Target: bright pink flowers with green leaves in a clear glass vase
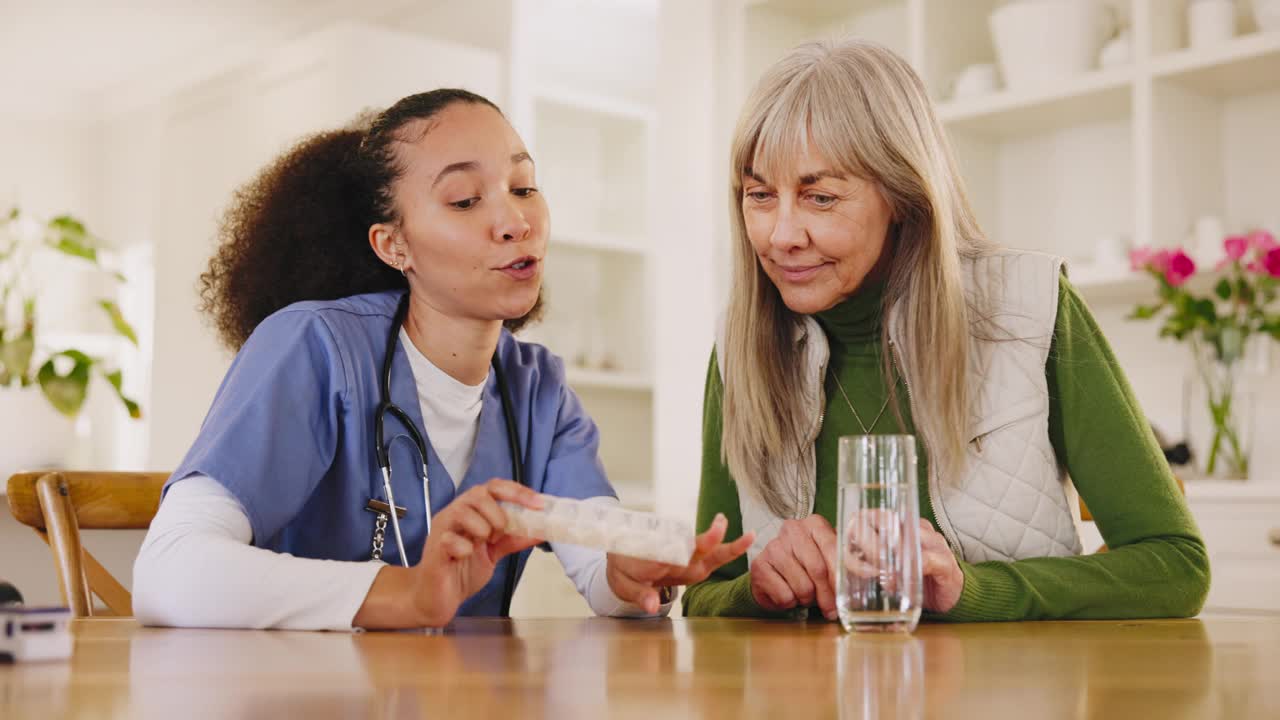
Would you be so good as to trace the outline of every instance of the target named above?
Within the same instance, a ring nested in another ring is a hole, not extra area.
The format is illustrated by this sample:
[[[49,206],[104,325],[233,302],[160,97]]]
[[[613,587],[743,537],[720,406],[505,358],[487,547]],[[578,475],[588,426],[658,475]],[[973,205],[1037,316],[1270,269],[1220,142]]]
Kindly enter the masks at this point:
[[[1181,249],[1134,250],[1130,264],[1156,279],[1158,300],[1138,305],[1130,318],[1162,316],[1160,337],[1190,346],[1183,424],[1197,469],[1207,477],[1247,479],[1253,384],[1267,370],[1267,338],[1280,338],[1280,314],[1272,310],[1280,295],[1280,245],[1271,233],[1254,231],[1228,237],[1222,250],[1204,286],[1208,292],[1189,287],[1198,268]],[[1251,356],[1263,361],[1249,363]]]

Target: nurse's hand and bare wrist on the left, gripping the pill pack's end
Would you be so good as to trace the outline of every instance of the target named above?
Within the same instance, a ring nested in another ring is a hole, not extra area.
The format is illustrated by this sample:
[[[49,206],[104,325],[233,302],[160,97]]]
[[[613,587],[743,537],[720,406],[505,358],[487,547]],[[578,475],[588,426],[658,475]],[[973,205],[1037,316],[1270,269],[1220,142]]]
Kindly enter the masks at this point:
[[[543,542],[508,534],[500,501],[541,509],[538,493],[511,480],[493,479],[460,495],[431,519],[417,565],[388,565],[378,573],[352,625],[439,628],[453,620],[458,606],[489,582],[499,560]]]

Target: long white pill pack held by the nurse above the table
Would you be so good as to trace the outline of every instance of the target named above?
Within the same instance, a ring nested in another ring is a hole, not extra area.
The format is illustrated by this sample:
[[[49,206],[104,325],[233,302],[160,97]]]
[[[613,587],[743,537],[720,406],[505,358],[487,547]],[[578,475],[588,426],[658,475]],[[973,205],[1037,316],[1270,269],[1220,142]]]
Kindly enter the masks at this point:
[[[694,529],[689,523],[612,503],[539,497],[541,510],[502,503],[507,532],[671,565],[686,565],[694,553]]]

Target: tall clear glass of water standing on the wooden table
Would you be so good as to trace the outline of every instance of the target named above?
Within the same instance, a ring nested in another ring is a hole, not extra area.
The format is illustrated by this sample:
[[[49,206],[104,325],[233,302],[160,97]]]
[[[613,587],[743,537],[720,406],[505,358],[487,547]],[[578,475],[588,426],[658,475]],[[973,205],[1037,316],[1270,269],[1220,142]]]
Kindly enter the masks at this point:
[[[920,620],[915,436],[840,438],[836,607],[846,630],[910,633]]]

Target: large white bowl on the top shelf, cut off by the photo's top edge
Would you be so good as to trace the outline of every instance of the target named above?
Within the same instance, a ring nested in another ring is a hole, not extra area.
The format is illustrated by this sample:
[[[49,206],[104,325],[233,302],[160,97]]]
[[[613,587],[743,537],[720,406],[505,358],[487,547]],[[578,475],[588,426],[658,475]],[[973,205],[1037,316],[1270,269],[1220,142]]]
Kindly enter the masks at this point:
[[[1033,88],[1097,67],[1107,10],[1098,0],[1018,0],[988,19],[1005,85]]]

